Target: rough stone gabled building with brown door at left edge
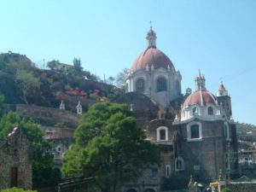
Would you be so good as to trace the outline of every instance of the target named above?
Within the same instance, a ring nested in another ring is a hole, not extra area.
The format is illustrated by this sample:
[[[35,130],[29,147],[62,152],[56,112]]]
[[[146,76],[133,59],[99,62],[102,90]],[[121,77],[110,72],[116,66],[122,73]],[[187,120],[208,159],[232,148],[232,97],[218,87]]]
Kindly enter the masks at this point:
[[[32,154],[26,135],[18,127],[0,143],[0,189],[32,189]]]

